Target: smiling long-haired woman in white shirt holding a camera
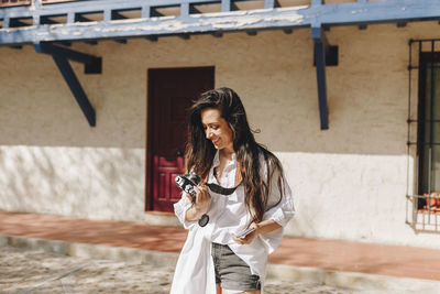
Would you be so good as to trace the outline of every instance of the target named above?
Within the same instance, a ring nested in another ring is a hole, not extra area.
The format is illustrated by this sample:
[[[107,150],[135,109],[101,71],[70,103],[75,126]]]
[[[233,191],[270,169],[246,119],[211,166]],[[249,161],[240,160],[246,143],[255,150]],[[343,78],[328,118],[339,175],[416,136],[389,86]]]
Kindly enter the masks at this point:
[[[170,293],[262,293],[294,203],[279,161],[255,141],[232,89],[207,91],[191,107],[186,170],[202,184],[194,202],[184,194],[174,206],[188,237]]]

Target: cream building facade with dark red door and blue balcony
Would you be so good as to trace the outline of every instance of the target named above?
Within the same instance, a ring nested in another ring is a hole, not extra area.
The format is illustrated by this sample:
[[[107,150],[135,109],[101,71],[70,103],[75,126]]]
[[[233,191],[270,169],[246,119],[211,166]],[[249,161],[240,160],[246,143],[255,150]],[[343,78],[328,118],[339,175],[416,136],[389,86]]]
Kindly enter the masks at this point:
[[[298,11],[317,6],[297,2],[293,7]],[[386,2],[396,1],[378,1]],[[403,9],[410,1],[404,2]],[[319,3],[337,14],[343,6],[374,4]],[[276,11],[292,9],[274,8],[273,18]],[[407,10],[418,11],[410,4]],[[82,63],[72,63],[95,110],[94,126],[78,107],[78,97],[66,83],[70,79],[58,70],[63,66],[54,62],[57,55],[40,53],[38,42],[9,41],[7,33],[46,25],[62,34],[63,25],[81,28],[99,21],[3,25],[0,209],[154,224],[158,216],[148,211],[167,210],[166,204],[157,203],[165,197],[162,194],[169,198],[177,193],[169,179],[182,167],[180,146],[173,142],[182,141],[185,126],[168,123],[169,118],[180,118],[196,98],[184,92],[227,86],[241,96],[251,127],[260,130],[257,141],[283,162],[297,209],[287,235],[438,248],[440,205],[435,194],[424,194],[438,190],[439,23],[389,18],[322,24],[324,39],[318,39],[338,47],[336,62],[334,55],[327,56],[334,63],[324,67],[323,84],[317,73],[317,39],[310,26],[300,24],[95,40],[66,31],[72,40],[42,41],[101,58],[98,74],[85,74]],[[188,89],[188,84],[204,85]],[[319,94],[322,85],[324,99]],[[165,101],[168,91],[175,99]],[[323,102],[327,111],[320,110]],[[161,155],[162,150],[175,156]],[[163,172],[174,161],[174,170]]]

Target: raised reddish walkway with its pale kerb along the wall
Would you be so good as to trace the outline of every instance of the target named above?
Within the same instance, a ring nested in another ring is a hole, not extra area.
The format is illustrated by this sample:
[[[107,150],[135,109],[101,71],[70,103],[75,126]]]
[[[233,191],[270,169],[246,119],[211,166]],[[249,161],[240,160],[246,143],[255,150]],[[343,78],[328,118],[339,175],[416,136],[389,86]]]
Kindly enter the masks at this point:
[[[0,213],[0,244],[72,257],[174,264],[177,227]],[[440,293],[440,250],[285,237],[268,277],[386,293]]]

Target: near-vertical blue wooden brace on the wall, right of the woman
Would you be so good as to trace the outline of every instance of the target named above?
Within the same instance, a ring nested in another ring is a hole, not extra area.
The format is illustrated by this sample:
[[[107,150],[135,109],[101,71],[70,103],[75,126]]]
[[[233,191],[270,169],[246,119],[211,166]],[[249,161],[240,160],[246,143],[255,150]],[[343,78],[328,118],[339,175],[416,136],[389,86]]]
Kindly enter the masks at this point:
[[[329,129],[329,115],[327,106],[327,81],[326,81],[326,36],[320,26],[311,28],[311,37],[314,39],[314,54],[317,69],[318,81],[318,102],[319,117],[321,120],[321,130]]]

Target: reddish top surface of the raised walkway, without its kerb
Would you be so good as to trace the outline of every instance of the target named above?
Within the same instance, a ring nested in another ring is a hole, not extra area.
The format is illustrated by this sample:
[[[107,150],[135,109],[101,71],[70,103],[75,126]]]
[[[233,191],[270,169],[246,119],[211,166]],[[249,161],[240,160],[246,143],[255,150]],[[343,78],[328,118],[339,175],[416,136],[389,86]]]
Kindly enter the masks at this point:
[[[187,231],[182,227],[0,211],[0,236],[178,253]],[[440,250],[406,246],[285,236],[268,263],[440,281]]]

